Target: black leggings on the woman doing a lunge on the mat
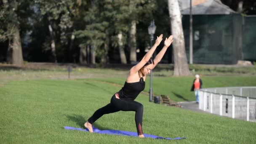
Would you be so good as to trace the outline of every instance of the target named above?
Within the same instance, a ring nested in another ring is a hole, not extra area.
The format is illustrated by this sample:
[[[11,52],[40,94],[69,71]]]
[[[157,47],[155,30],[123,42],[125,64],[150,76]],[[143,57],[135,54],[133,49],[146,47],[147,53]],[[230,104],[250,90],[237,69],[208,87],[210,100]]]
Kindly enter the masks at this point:
[[[133,101],[130,99],[117,99],[112,96],[111,101],[105,107],[101,107],[96,110],[94,114],[88,119],[88,122],[93,124],[96,120],[98,120],[102,115],[118,112],[118,111],[135,111],[135,123],[138,135],[142,135],[142,117],[143,117],[143,105],[137,101]]]

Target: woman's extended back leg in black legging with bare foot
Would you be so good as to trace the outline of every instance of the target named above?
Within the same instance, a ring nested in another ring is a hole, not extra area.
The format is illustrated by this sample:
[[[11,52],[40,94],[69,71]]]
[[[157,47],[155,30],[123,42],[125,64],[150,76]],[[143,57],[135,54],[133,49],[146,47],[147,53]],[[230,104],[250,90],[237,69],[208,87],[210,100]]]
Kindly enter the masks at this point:
[[[93,133],[92,124],[98,120],[102,115],[118,112],[119,109],[115,108],[112,104],[107,104],[104,107],[101,107],[100,109],[96,110],[94,114],[88,119],[88,121],[84,124],[85,128],[88,128],[88,130]]]

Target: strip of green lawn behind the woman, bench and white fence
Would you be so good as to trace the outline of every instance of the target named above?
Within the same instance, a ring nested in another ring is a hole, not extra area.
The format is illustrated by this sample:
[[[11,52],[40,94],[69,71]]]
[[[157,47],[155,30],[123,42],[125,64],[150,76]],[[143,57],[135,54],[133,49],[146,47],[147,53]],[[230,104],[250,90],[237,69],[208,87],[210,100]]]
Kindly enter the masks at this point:
[[[201,77],[203,88],[256,86],[256,76],[211,76]],[[117,83],[122,87],[124,78],[100,78],[94,81]],[[167,95],[173,101],[195,101],[194,92],[190,91],[194,77],[153,77],[152,89],[155,95]],[[88,81],[91,81],[88,79]],[[145,92],[149,92],[150,79],[147,77]]]

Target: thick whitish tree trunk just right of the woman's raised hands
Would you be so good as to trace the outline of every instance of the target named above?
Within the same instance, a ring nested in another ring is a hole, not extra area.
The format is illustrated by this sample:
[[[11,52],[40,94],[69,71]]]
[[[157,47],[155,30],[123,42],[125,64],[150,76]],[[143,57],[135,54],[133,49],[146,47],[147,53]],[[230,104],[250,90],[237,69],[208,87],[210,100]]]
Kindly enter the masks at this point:
[[[185,52],[184,34],[181,22],[181,12],[178,0],[168,0],[169,15],[171,18],[171,29],[174,38],[174,76],[190,75]]]

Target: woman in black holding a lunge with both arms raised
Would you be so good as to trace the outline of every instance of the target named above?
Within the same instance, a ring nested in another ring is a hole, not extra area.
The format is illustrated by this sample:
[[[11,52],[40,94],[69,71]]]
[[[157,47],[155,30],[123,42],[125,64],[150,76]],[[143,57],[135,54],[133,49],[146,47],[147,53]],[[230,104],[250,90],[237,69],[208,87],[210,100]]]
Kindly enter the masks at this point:
[[[134,101],[141,91],[145,88],[146,75],[150,73],[152,69],[158,64],[158,62],[163,58],[165,51],[173,42],[173,36],[165,38],[164,47],[157,54],[155,59],[152,59],[152,54],[154,53],[157,46],[163,39],[163,34],[157,37],[155,44],[152,48],[145,54],[145,56],[139,61],[138,64],[130,69],[128,77],[126,78],[123,88],[115,93],[110,103],[100,109],[96,110],[94,114],[88,119],[84,124],[85,128],[93,133],[92,124],[98,120],[102,115],[118,112],[118,111],[135,111],[135,123],[139,137],[144,137],[142,131],[142,116],[143,116],[143,105],[137,101]]]

